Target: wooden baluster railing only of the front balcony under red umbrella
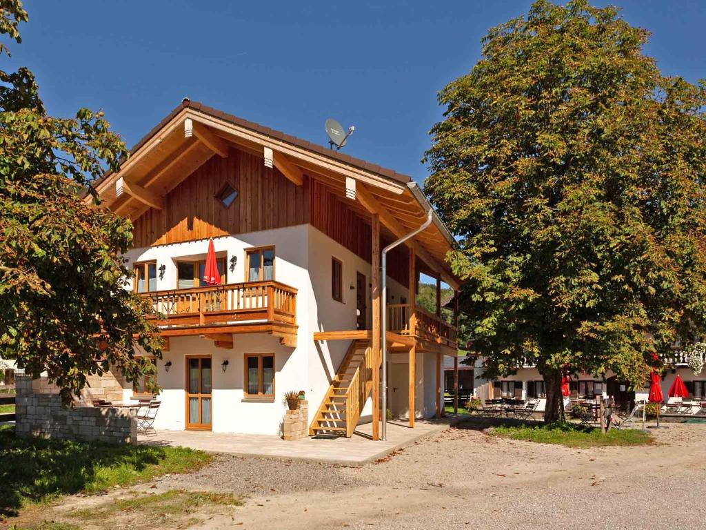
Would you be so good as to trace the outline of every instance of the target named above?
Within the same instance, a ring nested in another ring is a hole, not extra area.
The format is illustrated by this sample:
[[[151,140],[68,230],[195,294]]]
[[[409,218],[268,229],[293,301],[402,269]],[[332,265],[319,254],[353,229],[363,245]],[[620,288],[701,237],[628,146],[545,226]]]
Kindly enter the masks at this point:
[[[272,322],[296,324],[297,290],[277,281],[140,293],[160,326]]]

